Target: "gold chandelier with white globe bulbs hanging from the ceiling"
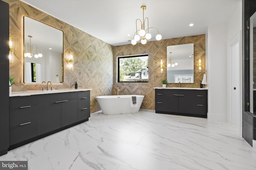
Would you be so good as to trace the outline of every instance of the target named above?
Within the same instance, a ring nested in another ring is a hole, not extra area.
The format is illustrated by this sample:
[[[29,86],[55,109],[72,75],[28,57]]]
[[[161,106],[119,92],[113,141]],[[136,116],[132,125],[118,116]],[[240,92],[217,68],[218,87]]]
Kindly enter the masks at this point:
[[[140,39],[142,44],[146,44],[147,40],[151,39],[152,37],[151,34],[149,33],[149,29],[156,29],[155,27],[148,27],[148,17],[144,19],[144,10],[146,10],[146,6],[141,6],[140,8],[143,10],[143,22],[140,19],[136,20],[136,32],[134,33],[133,40],[131,41],[132,45],[135,45],[137,41],[139,41]],[[141,29],[140,27],[139,29],[137,28],[137,21],[140,21]],[[147,23],[146,28],[145,23]],[[156,35],[156,40],[159,41],[162,39],[162,35],[159,34],[158,29],[156,29],[156,31],[158,32],[158,34]]]

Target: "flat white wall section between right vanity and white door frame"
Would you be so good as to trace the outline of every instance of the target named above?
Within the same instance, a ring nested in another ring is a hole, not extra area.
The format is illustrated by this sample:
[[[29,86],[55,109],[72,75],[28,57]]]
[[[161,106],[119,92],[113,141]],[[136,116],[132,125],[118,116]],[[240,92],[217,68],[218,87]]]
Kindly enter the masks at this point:
[[[226,122],[228,23],[208,27],[208,120]]]

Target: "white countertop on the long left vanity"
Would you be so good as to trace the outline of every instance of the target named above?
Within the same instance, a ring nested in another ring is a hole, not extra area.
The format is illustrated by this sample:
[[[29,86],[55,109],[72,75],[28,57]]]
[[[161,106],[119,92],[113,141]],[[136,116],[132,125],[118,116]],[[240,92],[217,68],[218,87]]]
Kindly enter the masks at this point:
[[[31,95],[37,95],[37,94],[51,94],[51,93],[65,93],[65,92],[80,92],[80,91],[88,91],[92,89],[54,89],[54,90],[34,90],[34,91],[23,91],[23,92],[12,92],[12,94],[9,94],[9,97],[13,96],[31,96]]]

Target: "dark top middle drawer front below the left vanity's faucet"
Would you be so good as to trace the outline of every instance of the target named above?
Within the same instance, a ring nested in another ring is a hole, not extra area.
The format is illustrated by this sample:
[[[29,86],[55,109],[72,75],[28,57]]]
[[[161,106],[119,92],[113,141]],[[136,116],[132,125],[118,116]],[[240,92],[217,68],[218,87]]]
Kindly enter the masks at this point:
[[[42,94],[40,96],[40,104],[47,104],[52,102],[60,102],[64,100],[73,99],[77,99],[77,92]]]

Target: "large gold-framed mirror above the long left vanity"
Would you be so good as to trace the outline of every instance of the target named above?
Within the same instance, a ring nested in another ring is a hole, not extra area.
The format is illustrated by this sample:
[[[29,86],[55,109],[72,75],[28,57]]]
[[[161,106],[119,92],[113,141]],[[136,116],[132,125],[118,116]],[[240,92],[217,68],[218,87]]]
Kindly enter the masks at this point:
[[[63,31],[27,16],[23,20],[24,83],[63,83]]]

